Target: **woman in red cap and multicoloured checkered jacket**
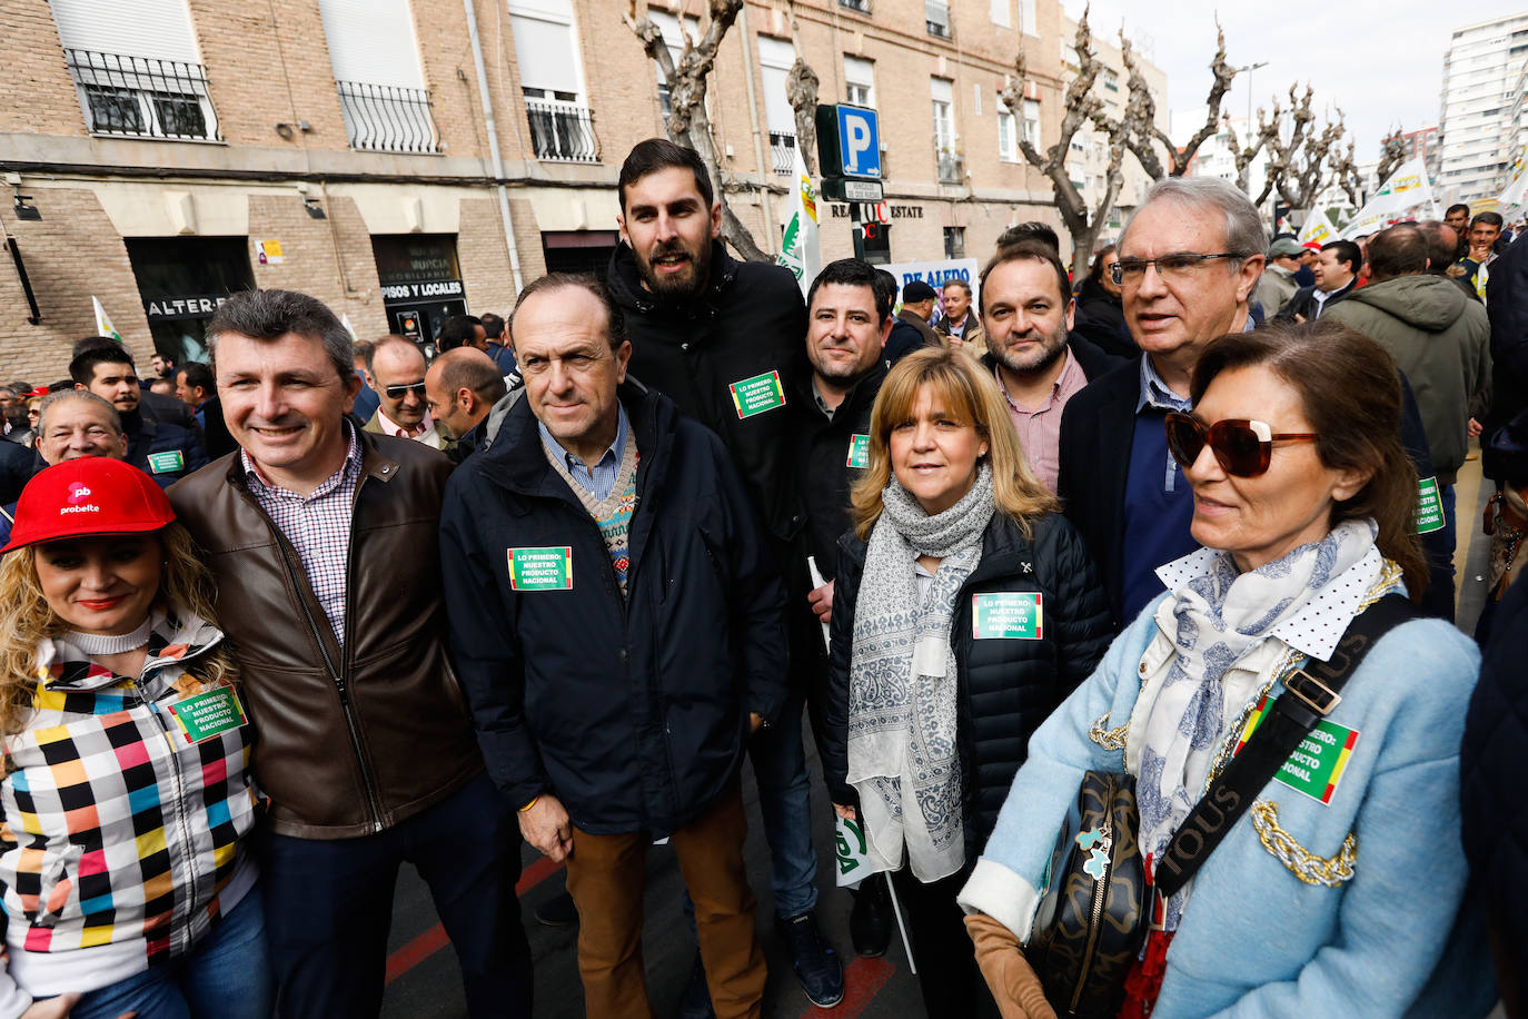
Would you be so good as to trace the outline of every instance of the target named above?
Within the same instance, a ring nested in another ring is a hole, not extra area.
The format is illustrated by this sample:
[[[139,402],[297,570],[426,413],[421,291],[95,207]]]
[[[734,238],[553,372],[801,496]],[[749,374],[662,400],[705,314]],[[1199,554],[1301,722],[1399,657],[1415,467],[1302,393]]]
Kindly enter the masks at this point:
[[[269,1016],[252,733],[170,500],[69,460],[0,553],[0,1016]]]

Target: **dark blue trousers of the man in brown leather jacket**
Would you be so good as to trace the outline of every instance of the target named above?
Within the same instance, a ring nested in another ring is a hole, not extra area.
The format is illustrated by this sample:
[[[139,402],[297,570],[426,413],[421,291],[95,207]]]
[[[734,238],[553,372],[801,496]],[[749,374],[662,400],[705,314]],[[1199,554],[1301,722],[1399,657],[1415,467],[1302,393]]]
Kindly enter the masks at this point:
[[[429,885],[461,964],[468,1014],[530,1016],[530,944],[520,926],[520,822],[487,773],[358,839],[264,837],[270,958],[289,1019],[382,1010],[397,868]]]

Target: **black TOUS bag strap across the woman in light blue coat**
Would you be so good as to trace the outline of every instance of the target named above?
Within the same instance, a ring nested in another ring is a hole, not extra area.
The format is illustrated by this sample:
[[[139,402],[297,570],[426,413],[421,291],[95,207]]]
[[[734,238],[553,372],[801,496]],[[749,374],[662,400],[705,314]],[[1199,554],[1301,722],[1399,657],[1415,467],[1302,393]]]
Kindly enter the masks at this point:
[[[1174,895],[1189,883],[1305,735],[1337,707],[1343,684],[1380,637],[1412,619],[1421,619],[1421,613],[1406,597],[1386,594],[1348,623],[1331,662],[1313,658],[1285,677],[1284,694],[1268,717],[1189,811],[1157,862],[1154,877],[1163,895]]]

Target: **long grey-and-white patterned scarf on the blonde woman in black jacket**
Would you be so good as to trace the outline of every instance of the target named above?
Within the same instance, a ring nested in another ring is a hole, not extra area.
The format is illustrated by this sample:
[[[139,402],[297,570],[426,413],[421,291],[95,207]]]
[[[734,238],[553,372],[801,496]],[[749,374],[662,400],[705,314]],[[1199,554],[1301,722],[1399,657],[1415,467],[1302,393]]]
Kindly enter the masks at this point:
[[[866,860],[931,883],[966,865],[957,746],[955,596],[981,559],[996,504],[992,469],[955,506],[929,516],[897,483],[869,533],[850,657],[848,782],[859,791]],[[918,599],[918,556],[940,559]]]

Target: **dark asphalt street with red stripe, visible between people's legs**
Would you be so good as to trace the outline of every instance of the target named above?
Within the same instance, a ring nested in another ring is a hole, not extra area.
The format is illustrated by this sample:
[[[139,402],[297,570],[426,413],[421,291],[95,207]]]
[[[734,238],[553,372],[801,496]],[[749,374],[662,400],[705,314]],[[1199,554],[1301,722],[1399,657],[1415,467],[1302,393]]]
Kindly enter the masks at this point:
[[[1479,460],[1471,460],[1459,474],[1456,623],[1464,632],[1475,629],[1485,599],[1487,539],[1481,530],[1481,507],[1493,487],[1481,478]],[[848,933],[850,897],[834,886],[833,811],[810,729],[807,732],[808,770],[811,772],[811,802],[817,849],[817,920],[828,943],[845,964],[845,998],[837,1008],[814,1008],[801,992],[790,970],[782,938],[775,930],[775,909],[769,889],[769,846],[764,842],[758,811],[758,790],[752,768],[743,779],[749,810],[746,857],[753,891],[759,898],[758,932],[769,959],[769,984],[764,1014],[769,1019],[891,1019],[923,1016],[917,978],[908,969],[900,943],[892,938],[891,950],[879,959],[856,959]],[[578,979],[576,927],[544,927],[533,917],[535,907],[562,891],[562,871],[538,852],[523,846],[523,877],[520,882],[526,932],[535,956],[536,1019],[582,1019],[584,993]],[[695,940],[680,911],[683,882],[672,851],[652,846],[648,851],[646,917],[643,953],[646,956],[648,996],[660,1019],[675,1014],[685,982],[695,956]],[[455,953],[440,929],[429,892],[419,877],[405,868],[399,877],[390,940],[388,988],[382,1014],[385,1019],[458,1019],[466,1016],[461,979]]]

